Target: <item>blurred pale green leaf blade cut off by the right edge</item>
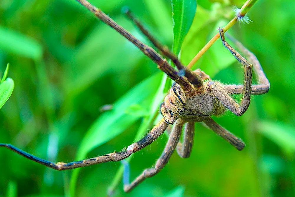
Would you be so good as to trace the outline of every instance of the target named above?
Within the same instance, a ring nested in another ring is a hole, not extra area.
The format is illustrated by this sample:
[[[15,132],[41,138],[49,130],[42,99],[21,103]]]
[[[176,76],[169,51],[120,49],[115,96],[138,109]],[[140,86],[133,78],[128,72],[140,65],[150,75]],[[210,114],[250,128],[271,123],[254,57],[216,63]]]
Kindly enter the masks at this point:
[[[276,143],[288,154],[295,152],[295,128],[281,122],[264,121],[257,127],[258,132]]]

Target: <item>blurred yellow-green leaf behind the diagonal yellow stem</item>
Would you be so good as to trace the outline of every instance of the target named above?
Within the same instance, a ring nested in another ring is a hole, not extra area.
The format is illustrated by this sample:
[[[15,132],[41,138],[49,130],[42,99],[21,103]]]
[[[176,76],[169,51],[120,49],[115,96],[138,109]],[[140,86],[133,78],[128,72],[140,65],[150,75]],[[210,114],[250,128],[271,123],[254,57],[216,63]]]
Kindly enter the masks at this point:
[[[187,65],[191,59],[206,45],[218,32],[217,27],[224,27],[227,21],[218,18],[211,19],[208,10],[198,6],[195,20],[183,41],[181,48],[181,61]],[[209,18],[209,19],[208,19]],[[226,38],[227,39],[227,38]],[[213,78],[220,70],[232,65],[237,60],[217,40],[204,55],[197,61],[194,68],[200,68]]]

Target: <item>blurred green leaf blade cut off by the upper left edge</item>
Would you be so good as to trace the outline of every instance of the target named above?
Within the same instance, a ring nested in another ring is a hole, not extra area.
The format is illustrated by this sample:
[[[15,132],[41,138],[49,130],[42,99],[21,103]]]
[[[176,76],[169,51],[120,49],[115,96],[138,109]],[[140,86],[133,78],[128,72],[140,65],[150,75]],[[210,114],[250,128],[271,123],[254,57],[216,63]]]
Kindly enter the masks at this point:
[[[0,26],[0,48],[32,59],[42,57],[42,46],[32,38]]]

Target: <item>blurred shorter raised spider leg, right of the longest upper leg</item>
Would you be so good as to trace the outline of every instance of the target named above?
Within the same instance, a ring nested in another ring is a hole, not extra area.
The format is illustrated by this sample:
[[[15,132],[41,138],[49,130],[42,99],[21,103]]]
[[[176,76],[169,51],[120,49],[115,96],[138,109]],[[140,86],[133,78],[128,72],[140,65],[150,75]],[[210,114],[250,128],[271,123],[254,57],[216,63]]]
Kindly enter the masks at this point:
[[[195,87],[199,88],[203,85],[203,80],[201,76],[192,72],[189,68],[183,66],[183,64],[178,60],[177,56],[172,53],[167,46],[162,45],[153,35],[148,32],[148,30],[142,25],[142,23],[135,17],[135,15],[130,11],[128,7],[125,7],[124,13],[127,17],[140,29],[140,31],[157,47],[164,56],[170,58],[176,65],[178,70],[185,71],[184,76],[187,77],[188,81]]]

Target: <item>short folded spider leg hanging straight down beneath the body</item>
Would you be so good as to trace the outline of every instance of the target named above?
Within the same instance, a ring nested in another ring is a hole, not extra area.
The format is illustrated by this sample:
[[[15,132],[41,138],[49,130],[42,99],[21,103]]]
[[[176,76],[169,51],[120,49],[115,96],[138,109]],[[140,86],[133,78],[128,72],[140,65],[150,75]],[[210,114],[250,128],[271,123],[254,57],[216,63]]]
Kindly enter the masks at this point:
[[[187,122],[184,127],[183,143],[178,142],[176,151],[182,158],[189,158],[194,144],[195,123]]]

